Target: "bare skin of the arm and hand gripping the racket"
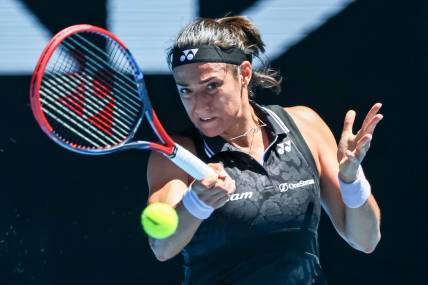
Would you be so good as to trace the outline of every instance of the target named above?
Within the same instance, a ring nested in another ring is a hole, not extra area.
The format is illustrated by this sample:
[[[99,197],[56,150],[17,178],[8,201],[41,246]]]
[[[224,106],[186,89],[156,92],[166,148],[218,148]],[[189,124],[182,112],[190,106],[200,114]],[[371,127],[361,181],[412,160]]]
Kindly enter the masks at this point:
[[[190,139],[174,137],[174,140],[195,153],[195,146]],[[235,183],[230,177],[224,175],[220,164],[209,165],[219,175],[194,181],[192,189],[198,193],[202,201],[217,209],[226,203],[228,194],[235,191]],[[192,178],[163,155],[152,152],[147,166],[147,182],[149,186],[148,203],[167,203],[176,209],[179,218],[177,230],[172,236],[166,239],[149,237],[149,245],[156,258],[159,261],[166,261],[180,253],[202,223],[202,220],[191,215],[181,202]]]

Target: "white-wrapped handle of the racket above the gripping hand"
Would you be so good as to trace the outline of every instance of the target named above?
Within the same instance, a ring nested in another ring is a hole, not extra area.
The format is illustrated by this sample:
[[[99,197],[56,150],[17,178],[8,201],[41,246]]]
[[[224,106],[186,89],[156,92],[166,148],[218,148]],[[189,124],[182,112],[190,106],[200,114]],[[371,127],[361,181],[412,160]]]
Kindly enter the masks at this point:
[[[215,175],[211,167],[179,144],[175,144],[175,151],[169,159],[197,180]]]

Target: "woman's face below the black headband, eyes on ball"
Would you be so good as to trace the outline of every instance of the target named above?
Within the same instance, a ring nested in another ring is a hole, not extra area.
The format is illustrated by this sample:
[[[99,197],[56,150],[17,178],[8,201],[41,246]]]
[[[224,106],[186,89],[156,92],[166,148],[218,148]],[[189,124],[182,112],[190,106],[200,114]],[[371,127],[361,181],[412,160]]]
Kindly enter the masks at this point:
[[[242,117],[245,100],[241,76],[225,63],[191,63],[174,69],[184,108],[193,124],[206,136],[224,135]]]

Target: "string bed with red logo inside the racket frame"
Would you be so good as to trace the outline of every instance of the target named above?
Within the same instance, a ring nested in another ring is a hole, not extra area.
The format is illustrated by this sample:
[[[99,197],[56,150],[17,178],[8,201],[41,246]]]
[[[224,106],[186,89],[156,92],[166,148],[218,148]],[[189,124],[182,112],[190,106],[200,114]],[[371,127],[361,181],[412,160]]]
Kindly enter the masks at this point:
[[[80,35],[77,36],[83,38]],[[107,147],[111,144],[116,145],[129,136],[132,130],[131,127],[135,125],[135,118],[140,117],[138,112],[141,112],[140,105],[142,103],[137,97],[138,85],[121,73],[126,72],[132,75],[133,70],[130,68],[126,55],[123,55],[124,52],[113,46],[117,45],[117,43],[112,40],[108,41],[106,48],[112,52],[106,53],[89,40],[84,39],[84,41],[87,45],[79,45],[74,39],[74,44],[65,43],[64,46],[68,50],[61,49],[58,55],[61,60],[53,61],[54,64],[51,66],[52,71],[50,73],[54,76],[46,76],[46,80],[43,80],[43,91],[41,90],[43,97],[41,97],[41,100],[43,106],[50,107],[56,115],[48,110],[44,111],[59,125],[64,126],[65,129],[71,132],[73,136],[69,139],[77,142],[77,144],[87,145],[89,143],[89,146],[86,147],[97,148],[100,147],[100,144],[101,147]],[[90,51],[88,46],[95,49],[95,51]],[[81,59],[79,61],[79,52],[74,52],[74,56],[65,55],[69,54],[70,50],[77,48],[82,49],[85,53],[85,61]],[[109,62],[96,53],[106,57]],[[91,56],[88,56],[88,54],[91,54]],[[117,69],[120,68],[121,72],[110,66],[112,62]],[[82,69],[82,67],[84,68]],[[88,72],[83,72],[82,70],[87,70]],[[71,76],[70,72],[75,74]],[[96,77],[96,80],[94,80],[94,77]],[[82,85],[82,82],[84,84],[92,84],[92,90],[85,89],[83,94],[82,92],[75,92],[74,96],[60,95],[76,91]],[[105,104],[109,100],[109,91],[114,93],[114,97],[112,97],[114,100],[110,102],[114,104],[110,105]],[[138,101],[135,101],[135,98]],[[83,100],[84,108],[82,108]],[[139,106],[139,110],[131,104]],[[132,109],[136,112],[132,112]],[[114,120],[112,120],[113,112],[115,115]],[[82,116],[83,114],[85,116]],[[62,118],[59,118],[59,116]],[[115,127],[112,127],[113,122]],[[63,133],[63,131],[60,131],[60,133]]]

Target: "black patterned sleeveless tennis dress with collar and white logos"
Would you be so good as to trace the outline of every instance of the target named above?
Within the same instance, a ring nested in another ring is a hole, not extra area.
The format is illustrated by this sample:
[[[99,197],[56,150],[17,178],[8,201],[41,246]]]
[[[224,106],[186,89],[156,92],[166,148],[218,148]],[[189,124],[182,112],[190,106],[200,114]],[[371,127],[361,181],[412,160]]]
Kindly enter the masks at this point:
[[[282,107],[252,105],[271,142],[262,161],[220,137],[193,138],[202,159],[223,163],[236,191],[183,249],[183,285],[326,284],[315,161]]]

